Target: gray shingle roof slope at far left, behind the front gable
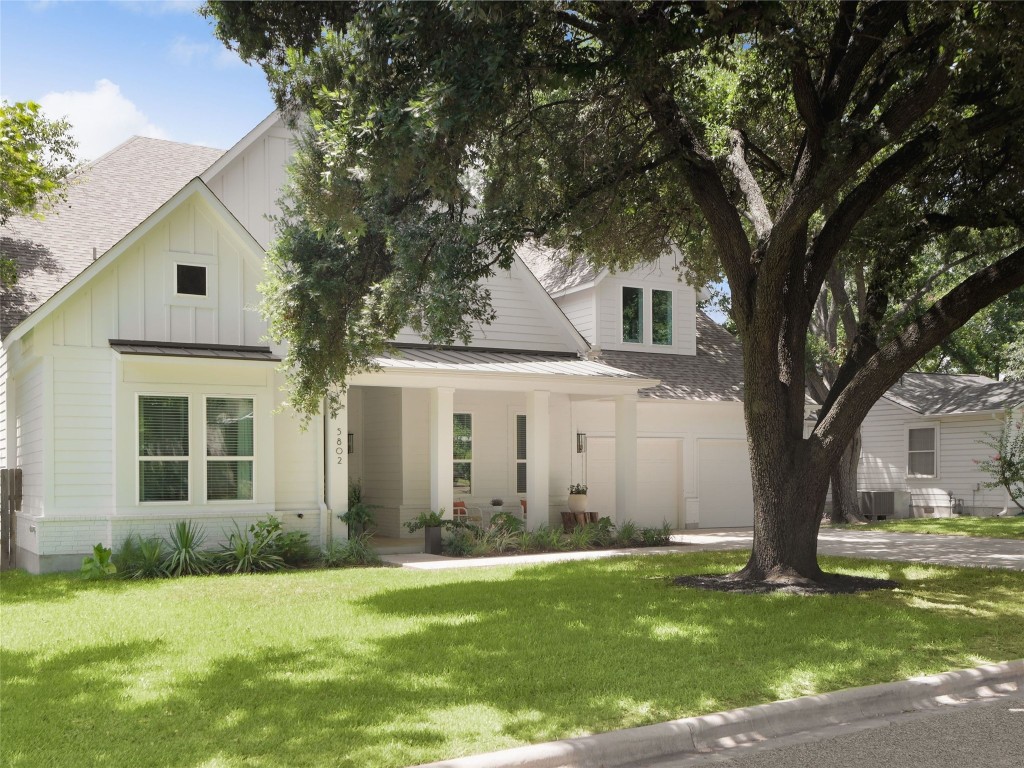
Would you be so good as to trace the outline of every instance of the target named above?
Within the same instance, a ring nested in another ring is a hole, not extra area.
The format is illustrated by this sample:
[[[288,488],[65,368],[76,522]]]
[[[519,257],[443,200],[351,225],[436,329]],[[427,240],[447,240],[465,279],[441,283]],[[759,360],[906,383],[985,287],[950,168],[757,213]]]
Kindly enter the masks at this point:
[[[134,136],[79,171],[68,200],[44,219],[16,217],[0,250],[17,284],[0,293],[0,338],[102,256],[223,152]]]

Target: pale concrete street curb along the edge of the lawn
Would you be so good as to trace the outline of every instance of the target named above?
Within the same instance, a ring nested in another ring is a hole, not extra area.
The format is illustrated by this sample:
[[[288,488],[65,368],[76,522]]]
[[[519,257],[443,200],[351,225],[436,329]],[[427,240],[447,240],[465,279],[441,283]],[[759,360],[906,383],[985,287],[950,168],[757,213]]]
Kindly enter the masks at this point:
[[[1018,691],[1024,691],[1024,659],[441,760],[419,768],[612,768],[936,709],[951,703],[947,699],[950,696],[990,696]]]

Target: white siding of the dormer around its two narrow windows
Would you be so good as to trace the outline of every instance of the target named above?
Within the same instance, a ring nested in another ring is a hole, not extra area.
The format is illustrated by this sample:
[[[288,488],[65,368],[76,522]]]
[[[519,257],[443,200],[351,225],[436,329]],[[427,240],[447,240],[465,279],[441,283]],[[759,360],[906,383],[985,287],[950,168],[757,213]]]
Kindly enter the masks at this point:
[[[696,291],[673,266],[676,257],[663,256],[651,264],[643,264],[628,272],[607,274],[597,284],[597,341],[601,349],[632,352],[663,352],[696,354]],[[623,289],[644,289],[644,343],[623,342]],[[651,343],[651,291],[672,291],[672,344]]]

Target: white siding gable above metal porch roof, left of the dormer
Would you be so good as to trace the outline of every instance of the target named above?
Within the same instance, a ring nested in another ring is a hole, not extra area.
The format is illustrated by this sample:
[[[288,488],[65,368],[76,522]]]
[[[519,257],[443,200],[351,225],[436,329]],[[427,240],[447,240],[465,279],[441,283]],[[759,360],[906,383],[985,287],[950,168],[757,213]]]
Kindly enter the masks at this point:
[[[517,258],[508,271],[499,270],[483,281],[490,292],[497,318],[477,325],[470,346],[500,347],[545,352],[577,352],[580,344],[569,324],[545,293],[541,284]],[[402,330],[395,341],[423,343],[411,329]],[[460,340],[456,340],[461,344]]]

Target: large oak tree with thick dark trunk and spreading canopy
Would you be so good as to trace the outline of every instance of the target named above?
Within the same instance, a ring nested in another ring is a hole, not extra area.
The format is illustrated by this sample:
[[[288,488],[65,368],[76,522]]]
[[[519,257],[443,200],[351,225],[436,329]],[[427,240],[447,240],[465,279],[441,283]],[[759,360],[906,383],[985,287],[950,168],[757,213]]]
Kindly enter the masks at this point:
[[[266,309],[292,399],[337,404],[400,326],[465,338],[524,239],[724,274],[744,355],[748,578],[820,580],[829,472],[871,404],[1024,284],[1024,7],[981,2],[221,3],[303,141]],[[1012,245],[898,324],[919,254]],[[808,329],[850,252],[863,311],[805,435]]]

